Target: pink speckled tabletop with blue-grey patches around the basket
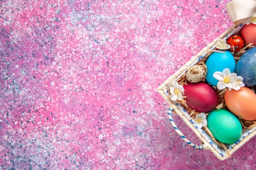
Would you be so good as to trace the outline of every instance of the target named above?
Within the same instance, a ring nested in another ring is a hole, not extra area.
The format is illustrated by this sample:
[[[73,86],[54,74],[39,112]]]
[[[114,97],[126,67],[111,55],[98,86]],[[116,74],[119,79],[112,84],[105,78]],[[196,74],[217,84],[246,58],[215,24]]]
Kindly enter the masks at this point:
[[[195,150],[157,93],[232,25],[227,2],[2,0],[0,170],[254,169],[255,138]]]

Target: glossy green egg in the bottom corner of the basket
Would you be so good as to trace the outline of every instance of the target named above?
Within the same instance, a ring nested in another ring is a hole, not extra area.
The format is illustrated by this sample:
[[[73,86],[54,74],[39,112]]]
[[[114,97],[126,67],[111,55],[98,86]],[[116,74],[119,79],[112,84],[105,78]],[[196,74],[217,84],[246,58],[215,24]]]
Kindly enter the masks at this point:
[[[219,109],[209,112],[207,127],[213,137],[224,144],[233,144],[242,136],[242,125],[230,111]]]

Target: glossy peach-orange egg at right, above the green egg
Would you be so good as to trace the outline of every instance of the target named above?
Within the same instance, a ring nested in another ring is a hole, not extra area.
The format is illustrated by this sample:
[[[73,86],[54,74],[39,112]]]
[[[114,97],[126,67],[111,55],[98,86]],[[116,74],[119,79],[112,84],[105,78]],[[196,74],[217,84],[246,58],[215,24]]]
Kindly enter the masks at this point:
[[[247,87],[241,87],[238,91],[227,90],[224,94],[227,108],[241,119],[256,119],[256,94]]]

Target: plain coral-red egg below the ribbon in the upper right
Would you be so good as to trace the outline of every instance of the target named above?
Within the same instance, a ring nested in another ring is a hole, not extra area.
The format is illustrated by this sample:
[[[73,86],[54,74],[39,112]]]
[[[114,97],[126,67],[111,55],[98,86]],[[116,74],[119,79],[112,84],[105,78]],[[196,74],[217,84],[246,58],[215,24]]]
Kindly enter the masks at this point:
[[[252,43],[254,46],[256,46],[256,24],[245,24],[241,29],[240,35],[245,44]]]

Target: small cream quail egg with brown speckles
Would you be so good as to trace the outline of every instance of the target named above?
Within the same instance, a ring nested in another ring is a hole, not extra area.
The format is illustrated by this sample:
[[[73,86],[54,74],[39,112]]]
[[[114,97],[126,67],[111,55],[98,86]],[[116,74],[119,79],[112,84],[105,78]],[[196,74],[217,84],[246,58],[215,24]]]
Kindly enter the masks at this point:
[[[186,79],[189,82],[200,82],[206,76],[206,68],[201,64],[193,65],[186,71]]]

